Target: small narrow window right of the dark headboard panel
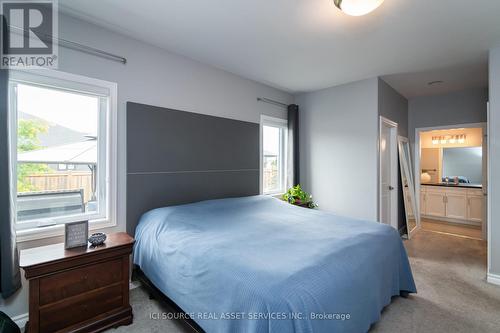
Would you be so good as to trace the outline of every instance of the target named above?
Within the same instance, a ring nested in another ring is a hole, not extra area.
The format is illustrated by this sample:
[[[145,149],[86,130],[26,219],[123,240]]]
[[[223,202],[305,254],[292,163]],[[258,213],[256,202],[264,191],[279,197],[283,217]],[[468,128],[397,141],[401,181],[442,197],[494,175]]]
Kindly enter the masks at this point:
[[[286,191],[287,121],[261,117],[261,180],[262,193]]]

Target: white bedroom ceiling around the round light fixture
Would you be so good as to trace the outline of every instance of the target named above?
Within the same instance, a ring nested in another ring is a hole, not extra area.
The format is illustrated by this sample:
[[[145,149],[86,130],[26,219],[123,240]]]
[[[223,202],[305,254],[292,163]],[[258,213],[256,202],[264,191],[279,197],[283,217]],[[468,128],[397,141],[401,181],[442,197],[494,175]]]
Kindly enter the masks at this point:
[[[382,76],[407,97],[487,85],[498,0],[60,0],[72,15],[229,72],[304,92]],[[112,50],[109,50],[112,51]],[[439,86],[427,82],[444,80]]]

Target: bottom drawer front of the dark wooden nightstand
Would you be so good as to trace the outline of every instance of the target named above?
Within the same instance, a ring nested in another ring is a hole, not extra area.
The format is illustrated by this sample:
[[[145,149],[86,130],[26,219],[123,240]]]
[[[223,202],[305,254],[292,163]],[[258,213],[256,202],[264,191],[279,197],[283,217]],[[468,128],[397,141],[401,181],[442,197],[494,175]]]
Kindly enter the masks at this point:
[[[41,307],[40,332],[56,332],[122,308],[122,284],[117,283]]]

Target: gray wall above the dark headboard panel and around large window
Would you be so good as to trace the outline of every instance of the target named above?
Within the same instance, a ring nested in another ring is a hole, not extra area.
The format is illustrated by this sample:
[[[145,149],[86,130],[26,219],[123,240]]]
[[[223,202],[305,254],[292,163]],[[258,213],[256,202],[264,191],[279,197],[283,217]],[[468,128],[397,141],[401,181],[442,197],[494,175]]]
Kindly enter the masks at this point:
[[[128,60],[123,65],[65,48],[59,53],[59,70],[118,83],[118,226],[106,232],[125,230],[127,101],[254,123],[259,122],[261,114],[286,118],[285,110],[259,103],[257,97],[293,102],[293,96],[286,92],[72,17],[60,17],[59,36],[122,55]],[[26,248],[60,241],[62,237],[20,246]],[[26,313],[26,289],[7,301],[0,300],[0,310],[11,316]]]

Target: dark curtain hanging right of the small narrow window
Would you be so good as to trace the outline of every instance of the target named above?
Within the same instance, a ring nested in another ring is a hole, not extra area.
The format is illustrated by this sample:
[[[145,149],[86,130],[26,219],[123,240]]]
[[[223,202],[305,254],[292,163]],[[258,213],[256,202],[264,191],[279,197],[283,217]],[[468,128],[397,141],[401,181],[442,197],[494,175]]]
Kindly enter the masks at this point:
[[[288,106],[288,187],[300,182],[299,175],[299,106]]]

